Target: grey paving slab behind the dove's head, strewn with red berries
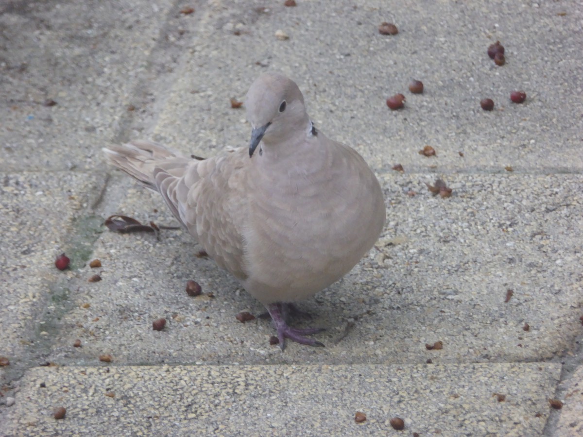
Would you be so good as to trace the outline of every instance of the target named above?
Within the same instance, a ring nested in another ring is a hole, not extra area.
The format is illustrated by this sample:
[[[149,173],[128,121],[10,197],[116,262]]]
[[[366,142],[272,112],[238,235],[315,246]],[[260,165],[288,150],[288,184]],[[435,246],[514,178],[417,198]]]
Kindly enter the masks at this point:
[[[243,100],[256,76],[279,69],[297,80],[318,128],[377,169],[583,168],[578,2],[282,3],[216,2],[204,11],[152,131],[157,139],[201,156],[244,146],[250,128],[229,98]],[[379,34],[381,22],[399,33]],[[501,67],[486,53],[496,40],[506,49]],[[423,94],[409,93],[413,78]],[[513,90],[526,92],[525,104],[510,102]],[[407,98],[402,111],[385,105],[395,93]],[[480,108],[484,97],[496,110]],[[437,156],[420,156],[425,145]]]

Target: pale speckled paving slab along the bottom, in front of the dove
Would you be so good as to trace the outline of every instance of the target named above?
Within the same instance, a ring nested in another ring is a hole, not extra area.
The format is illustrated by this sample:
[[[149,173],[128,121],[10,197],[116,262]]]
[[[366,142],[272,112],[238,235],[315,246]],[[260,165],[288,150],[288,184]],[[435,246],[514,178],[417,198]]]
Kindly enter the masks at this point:
[[[559,375],[537,363],[33,368],[4,433],[539,435]]]

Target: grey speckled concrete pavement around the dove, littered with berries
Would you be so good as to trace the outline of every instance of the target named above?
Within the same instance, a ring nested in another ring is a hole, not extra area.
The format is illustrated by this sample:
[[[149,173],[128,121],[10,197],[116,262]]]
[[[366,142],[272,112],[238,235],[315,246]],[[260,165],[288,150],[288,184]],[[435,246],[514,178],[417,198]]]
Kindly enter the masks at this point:
[[[0,4],[2,435],[397,435],[395,416],[406,435],[578,435],[583,5],[297,3]],[[385,21],[399,33],[380,35]],[[386,194],[373,251],[301,305],[326,348],[281,353],[266,320],[238,322],[261,305],[181,230],[101,225],[175,225],[104,165],[104,144],[245,146],[229,99],[266,69],[297,81],[318,128],[359,150]],[[395,93],[404,110],[385,105]],[[427,191],[436,178],[451,198]]]

